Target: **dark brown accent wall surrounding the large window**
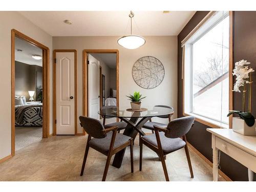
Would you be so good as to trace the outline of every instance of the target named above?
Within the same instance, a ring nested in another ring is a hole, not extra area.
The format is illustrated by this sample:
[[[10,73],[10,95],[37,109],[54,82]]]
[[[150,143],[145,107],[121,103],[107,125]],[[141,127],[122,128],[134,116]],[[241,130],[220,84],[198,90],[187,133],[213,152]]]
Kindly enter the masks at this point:
[[[182,48],[181,40],[183,40],[188,33],[193,30],[197,24],[207,15],[208,11],[197,11],[195,15],[189,20],[187,25],[178,35],[178,117],[182,117]],[[235,11],[234,12],[234,61],[247,59],[252,63],[251,67],[256,69],[256,11]],[[256,72],[252,75],[252,114],[256,116]],[[234,110],[241,110],[241,94],[234,93]],[[195,122],[193,129],[187,134],[188,142],[212,162],[211,149],[211,134],[206,131],[208,126]],[[248,181],[247,168],[221,153],[220,167],[233,181]],[[255,181],[254,174],[254,181]]]

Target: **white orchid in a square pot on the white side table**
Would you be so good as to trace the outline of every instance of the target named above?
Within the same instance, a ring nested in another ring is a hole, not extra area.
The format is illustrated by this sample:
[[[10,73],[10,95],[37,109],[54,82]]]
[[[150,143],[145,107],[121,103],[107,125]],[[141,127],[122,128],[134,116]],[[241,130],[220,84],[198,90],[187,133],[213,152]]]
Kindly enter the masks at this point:
[[[254,72],[249,65],[250,62],[247,60],[241,60],[235,63],[235,68],[233,69],[233,75],[236,75],[236,83],[234,83],[235,92],[241,92],[240,87],[243,87],[242,103],[243,111],[229,111],[227,116],[232,114],[237,114],[239,117],[232,118],[232,130],[234,132],[240,133],[242,135],[256,135],[255,130],[255,118],[251,115],[251,72]],[[245,109],[246,105],[246,87],[248,87],[248,109]]]

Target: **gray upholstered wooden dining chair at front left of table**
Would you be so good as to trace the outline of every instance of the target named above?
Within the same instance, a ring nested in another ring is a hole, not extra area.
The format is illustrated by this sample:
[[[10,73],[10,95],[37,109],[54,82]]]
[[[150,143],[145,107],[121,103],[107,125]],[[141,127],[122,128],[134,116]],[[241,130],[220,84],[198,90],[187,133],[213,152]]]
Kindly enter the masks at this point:
[[[86,152],[84,153],[80,176],[83,175],[89,147],[107,156],[102,181],[105,181],[106,174],[108,174],[111,157],[126,146],[130,146],[131,149],[131,172],[133,173],[133,139],[131,137],[117,133],[117,126],[105,129],[103,124],[97,119],[80,116],[79,120],[84,131],[88,133]]]

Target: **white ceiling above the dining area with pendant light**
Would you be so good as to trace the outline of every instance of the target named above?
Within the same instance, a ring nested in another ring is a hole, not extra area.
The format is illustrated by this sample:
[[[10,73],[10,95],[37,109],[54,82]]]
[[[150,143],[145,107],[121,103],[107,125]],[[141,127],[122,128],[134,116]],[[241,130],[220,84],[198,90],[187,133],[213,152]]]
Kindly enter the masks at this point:
[[[133,34],[178,35],[196,11],[134,11]],[[52,36],[122,36],[130,34],[130,11],[19,11]],[[71,20],[72,25],[63,23]]]

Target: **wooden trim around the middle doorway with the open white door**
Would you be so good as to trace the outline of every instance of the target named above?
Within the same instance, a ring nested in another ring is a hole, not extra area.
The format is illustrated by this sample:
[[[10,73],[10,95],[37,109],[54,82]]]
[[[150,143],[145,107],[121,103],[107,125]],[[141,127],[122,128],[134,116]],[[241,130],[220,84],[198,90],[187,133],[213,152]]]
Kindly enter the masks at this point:
[[[88,54],[116,53],[116,104],[119,106],[119,51],[117,49],[84,49],[82,51],[82,114],[88,116]],[[83,130],[83,135],[86,133]]]

